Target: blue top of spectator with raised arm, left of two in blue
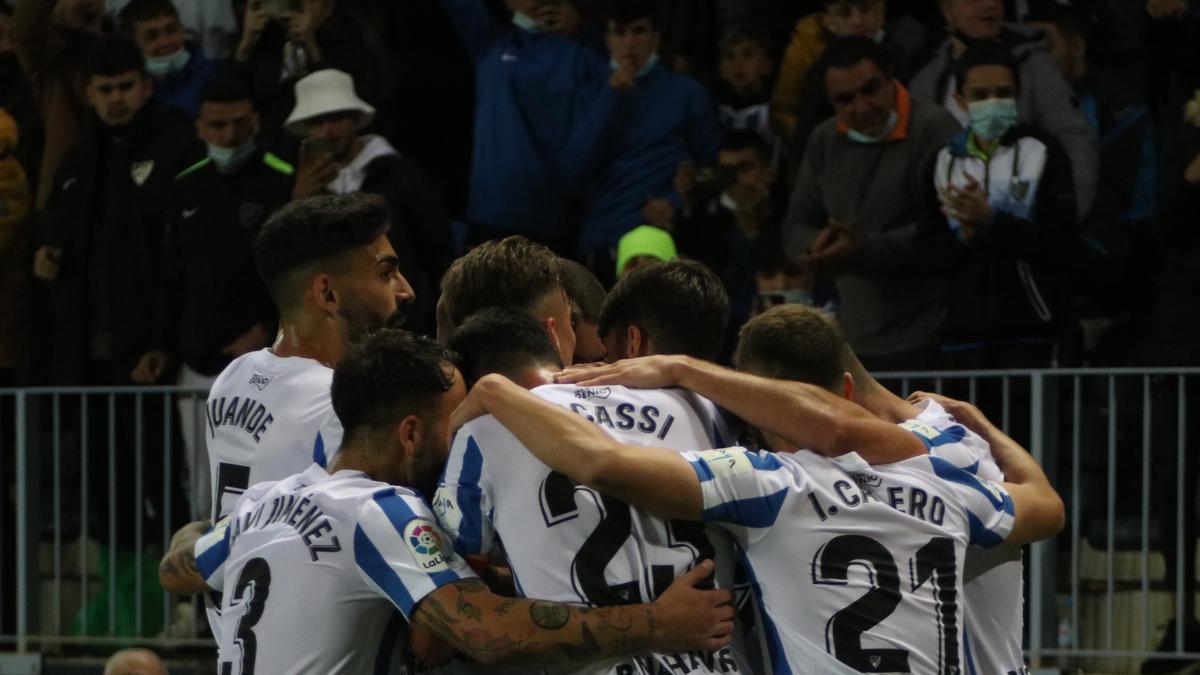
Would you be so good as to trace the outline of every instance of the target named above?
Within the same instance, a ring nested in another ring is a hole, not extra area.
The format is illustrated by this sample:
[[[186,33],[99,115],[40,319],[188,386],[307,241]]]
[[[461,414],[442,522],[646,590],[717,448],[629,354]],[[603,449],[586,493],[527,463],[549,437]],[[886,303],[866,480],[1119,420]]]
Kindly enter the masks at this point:
[[[607,86],[593,49],[502,23],[482,0],[442,0],[475,62],[475,139],[467,220],[554,238],[574,235],[580,190],[563,156],[589,100]]]

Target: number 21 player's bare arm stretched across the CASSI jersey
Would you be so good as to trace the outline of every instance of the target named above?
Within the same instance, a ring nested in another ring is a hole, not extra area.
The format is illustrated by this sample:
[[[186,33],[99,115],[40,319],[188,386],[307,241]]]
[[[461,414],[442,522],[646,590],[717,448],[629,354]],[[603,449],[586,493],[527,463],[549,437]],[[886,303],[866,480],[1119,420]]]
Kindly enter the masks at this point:
[[[455,411],[452,425],[488,413],[540,461],[584,485],[661,518],[698,520],[702,514],[700,479],[676,452],[620,443],[498,375],[472,388]]]

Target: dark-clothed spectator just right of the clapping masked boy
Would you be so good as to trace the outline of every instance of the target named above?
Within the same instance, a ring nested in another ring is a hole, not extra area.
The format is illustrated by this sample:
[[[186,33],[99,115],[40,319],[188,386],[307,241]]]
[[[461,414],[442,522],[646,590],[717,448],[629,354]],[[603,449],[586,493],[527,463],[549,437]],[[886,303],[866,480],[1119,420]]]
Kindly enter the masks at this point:
[[[1086,351],[1098,351],[1102,363],[1112,363],[1123,357],[1127,340],[1122,338],[1129,330],[1109,327],[1114,321],[1144,318],[1145,299],[1153,295],[1157,276],[1153,217],[1160,177],[1154,118],[1140,68],[1100,68],[1090,62],[1092,26],[1084,14],[1048,5],[1033,19],[1100,138],[1099,192],[1084,221],[1084,234],[1097,245],[1105,269],[1093,275],[1098,279],[1087,288],[1076,289],[1075,304],[1084,318]]]

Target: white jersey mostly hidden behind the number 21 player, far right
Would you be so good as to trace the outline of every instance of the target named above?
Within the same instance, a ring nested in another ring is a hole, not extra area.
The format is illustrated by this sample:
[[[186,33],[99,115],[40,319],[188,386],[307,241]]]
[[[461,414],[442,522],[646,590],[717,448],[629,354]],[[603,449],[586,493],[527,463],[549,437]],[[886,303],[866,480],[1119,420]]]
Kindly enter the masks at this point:
[[[918,404],[920,414],[900,426],[920,438],[929,452],[985,480],[1002,482],[1003,472],[991,458],[988,442],[955,422],[938,402]],[[967,632],[967,673],[1025,673],[1021,629],[1025,623],[1025,577],[1021,548],[1002,544],[967,549],[964,569]]]

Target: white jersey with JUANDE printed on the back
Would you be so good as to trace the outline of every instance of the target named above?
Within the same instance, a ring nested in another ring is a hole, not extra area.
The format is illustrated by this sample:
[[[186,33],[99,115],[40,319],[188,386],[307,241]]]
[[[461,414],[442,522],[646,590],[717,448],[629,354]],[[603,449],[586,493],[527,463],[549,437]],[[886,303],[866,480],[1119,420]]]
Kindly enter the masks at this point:
[[[342,444],[329,384],[334,371],[270,350],[234,359],[212,383],[204,438],[212,477],[212,520],[256,483],[281,480],[312,462],[326,466]]]

